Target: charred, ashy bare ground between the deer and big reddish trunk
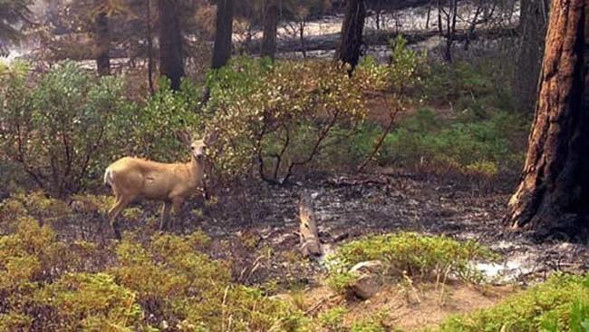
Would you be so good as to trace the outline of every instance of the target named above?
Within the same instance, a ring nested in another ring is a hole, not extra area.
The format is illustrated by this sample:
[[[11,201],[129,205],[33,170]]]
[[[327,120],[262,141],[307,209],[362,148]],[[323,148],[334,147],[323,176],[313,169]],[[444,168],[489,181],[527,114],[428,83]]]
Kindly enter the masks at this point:
[[[562,239],[537,243],[526,234],[507,231],[502,218],[511,185],[497,183],[510,181],[391,170],[336,178],[310,176],[289,186],[246,181],[216,188],[216,199],[206,203],[204,213],[199,209],[201,203],[187,204],[186,213],[172,231],[181,234],[202,229],[213,239],[209,254],[230,261],[238,282],[290,298],[310,315],[345,306],[344,322],[351,323],[385,310],[391,326],[412,330],[439,323],[452,314],[491,307],[556,270],[589,270],[589,250],[583,244]],[[503,261],[479,265],[488,275],[489,283],[484,287],[452,282],[441,288],[433,284],[415,288],[388,285],[367,301],[344,298],[324,285],[321,260],[304,259],[299,254],[297,201],[301,194],[316,197],[319,234],[327,251],[365,235],[415,231],[476,239]],[[159,206],[144,202],[141,207],[142,220],[123,220],[122,227],[149,239],[157,231],[153,217],[159,217]],[[111,230],[101,221],[94,225],[99,229],[72,225],[58,233],[109,246]]]

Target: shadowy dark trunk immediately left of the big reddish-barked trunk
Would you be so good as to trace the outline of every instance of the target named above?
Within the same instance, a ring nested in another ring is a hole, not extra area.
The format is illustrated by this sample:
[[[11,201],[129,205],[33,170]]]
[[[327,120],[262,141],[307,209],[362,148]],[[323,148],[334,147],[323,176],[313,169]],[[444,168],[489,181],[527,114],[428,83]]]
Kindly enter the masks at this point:
[[[531,112],[536,104],[538,78],[544,54],[548,0],[522,0],[518,28],[516,83],[517,105]]]

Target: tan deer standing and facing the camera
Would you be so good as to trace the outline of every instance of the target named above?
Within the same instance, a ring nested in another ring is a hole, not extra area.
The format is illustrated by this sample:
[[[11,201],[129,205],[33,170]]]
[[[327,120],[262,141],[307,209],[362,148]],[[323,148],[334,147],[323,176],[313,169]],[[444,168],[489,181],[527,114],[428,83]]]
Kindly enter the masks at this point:
[[[111,229],[117,239],[121,230],[117,218],[135,200],[162,201],[159,230],[168,228],[169,212],[179,215],[182,203],[194,192],[208,196],[205,184],[207,149],[217,142],[218,132],[206,132],[203,139],[192,140],[188,131],[176,132],[176,137],[188,148],[187,163],[162,163],[136,157],[123,157],[111,163],[104,172],[104,184],[111,187],[115,203],[108,211]]]

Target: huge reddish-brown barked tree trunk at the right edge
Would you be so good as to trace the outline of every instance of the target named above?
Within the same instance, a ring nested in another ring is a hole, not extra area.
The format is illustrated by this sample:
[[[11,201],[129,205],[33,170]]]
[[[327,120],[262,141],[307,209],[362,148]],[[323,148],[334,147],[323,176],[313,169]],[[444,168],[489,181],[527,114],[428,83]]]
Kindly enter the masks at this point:
[[[586,236],[589,226],[585,2],[552,5],[526,165],[509,201],[509,224],[540,237]]]

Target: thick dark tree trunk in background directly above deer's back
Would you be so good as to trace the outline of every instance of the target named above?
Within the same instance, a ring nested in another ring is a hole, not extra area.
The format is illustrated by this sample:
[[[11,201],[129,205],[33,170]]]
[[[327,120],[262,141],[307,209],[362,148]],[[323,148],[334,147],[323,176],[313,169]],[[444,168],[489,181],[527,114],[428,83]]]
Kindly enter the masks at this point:
[[[180,79],[184,76],[178,1],[158,0],[159,73],[169,78],[172,90],[179,90]]]

